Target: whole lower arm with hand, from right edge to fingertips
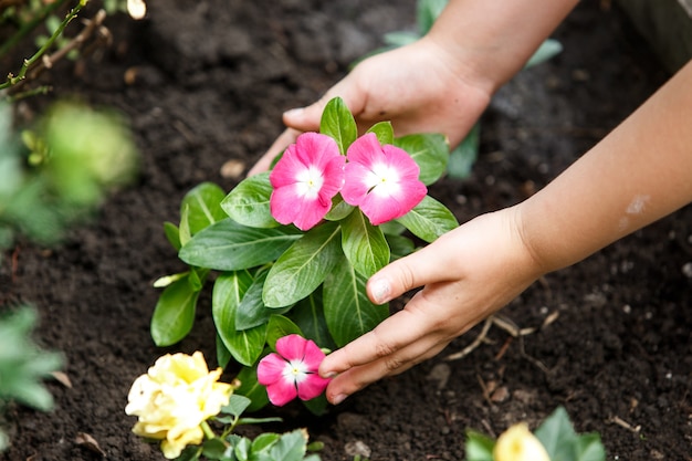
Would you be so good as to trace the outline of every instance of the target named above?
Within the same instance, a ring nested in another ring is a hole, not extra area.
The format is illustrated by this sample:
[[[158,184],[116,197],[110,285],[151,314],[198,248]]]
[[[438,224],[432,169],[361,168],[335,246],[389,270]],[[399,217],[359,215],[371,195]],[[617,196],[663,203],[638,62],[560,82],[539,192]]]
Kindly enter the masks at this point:
[[[333,404],[432,357],[541,275],[574,264],[692,201],[692,62],[530,199],[483,214],[368,281],[390,301],[423,286],[374,331],[329,354]]]

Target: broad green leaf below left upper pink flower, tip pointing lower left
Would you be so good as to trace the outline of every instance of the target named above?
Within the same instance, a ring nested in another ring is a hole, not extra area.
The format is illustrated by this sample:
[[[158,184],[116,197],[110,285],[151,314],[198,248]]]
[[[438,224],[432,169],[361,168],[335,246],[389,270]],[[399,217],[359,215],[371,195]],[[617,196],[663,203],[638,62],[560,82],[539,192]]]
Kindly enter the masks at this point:
[[[269,307],[295,304],[314,292],[342,253],[340,229],[324,222],[287,249],[269,271],[262,295]]]

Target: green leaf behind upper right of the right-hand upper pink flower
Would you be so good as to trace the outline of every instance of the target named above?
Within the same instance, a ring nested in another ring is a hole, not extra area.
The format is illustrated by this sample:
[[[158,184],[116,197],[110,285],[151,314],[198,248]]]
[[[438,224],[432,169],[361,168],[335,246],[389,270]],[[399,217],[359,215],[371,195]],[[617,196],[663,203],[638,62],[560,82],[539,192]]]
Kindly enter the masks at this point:
[[[419,179],[429,186],[447,170],[449,144],[443,135],[409,135],[395,139],[395,146],[409,153],[420,167]]]

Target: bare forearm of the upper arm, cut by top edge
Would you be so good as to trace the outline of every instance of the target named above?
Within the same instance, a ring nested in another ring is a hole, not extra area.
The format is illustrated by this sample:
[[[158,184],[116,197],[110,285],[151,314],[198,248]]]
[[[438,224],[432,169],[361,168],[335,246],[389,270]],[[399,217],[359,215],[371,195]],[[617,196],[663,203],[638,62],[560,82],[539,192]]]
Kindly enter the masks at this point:
[[[578,0],[451,0],[426,40],[492,94],[531,57]]]

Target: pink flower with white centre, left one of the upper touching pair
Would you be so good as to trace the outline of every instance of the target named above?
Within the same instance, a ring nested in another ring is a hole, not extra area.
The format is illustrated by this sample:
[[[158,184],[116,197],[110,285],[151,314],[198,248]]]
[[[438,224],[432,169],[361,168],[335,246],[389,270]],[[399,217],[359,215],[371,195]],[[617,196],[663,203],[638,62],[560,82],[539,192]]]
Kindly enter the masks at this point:
[[[274,190],[270,209],[282,224],[308,230],[332,207],[344,184],[344,164],[336,142],[327,135],[304,133],[286,148],[269,179]]]

